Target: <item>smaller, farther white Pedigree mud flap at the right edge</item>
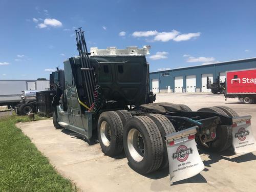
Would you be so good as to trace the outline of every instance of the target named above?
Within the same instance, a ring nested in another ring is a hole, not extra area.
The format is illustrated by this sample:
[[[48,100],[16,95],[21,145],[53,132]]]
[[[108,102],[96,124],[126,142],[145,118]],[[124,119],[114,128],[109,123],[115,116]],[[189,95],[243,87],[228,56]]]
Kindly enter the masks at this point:
[[[246,154],[256,151],[251,129],[251,116],[233,118],[232,135],[234,153]]]

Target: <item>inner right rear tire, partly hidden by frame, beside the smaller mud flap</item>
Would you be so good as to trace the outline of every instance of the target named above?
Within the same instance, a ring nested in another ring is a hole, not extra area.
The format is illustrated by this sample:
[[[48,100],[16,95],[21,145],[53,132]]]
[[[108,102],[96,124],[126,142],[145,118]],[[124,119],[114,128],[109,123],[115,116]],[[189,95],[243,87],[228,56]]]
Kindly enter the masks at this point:
[[[221,115],[228,116],[224,111],[216,107],[202,108],[202,109],[199,109],[198,111],[216,112]],[[205,150],[210,150],[213,152],[222,152],[227,150],[227,148],[229,148],[232,145],[232,127],[217,127],[216,139],[206,144],[208,144],[209,148],[201,145],[201,142],[199,143],[199,145]]]

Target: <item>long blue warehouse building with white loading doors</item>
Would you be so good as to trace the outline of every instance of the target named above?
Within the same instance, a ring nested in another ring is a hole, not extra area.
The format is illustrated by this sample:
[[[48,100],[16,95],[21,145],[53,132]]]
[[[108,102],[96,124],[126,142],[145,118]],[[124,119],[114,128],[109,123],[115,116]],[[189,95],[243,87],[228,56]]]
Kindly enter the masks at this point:
[[[154,93],[211,92],[206,88],[207,76],[211,82],[218,76],[224,82],[226,71],[251,68],[256,68],[256,58],[156,71],[150,73],[150,88]]]

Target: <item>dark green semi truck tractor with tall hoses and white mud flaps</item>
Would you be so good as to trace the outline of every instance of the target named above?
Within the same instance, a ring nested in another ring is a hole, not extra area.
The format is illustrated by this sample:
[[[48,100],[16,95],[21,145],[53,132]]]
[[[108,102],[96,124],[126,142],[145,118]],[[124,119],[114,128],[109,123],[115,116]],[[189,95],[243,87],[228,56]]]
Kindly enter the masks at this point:
[[[150,46],[87,51],[76,30],[79,56],[64,61],[65,83],[53,99],[53,124],[90,140],[97,130],[102,152],[116,157],[124,150],[139,174],[169,168],[172,182],[204,169],[197,146],[237,154],[256,150],[251,116],[240,117],[227,106],[198,111],[184,104],[153,103],[150,92]]]

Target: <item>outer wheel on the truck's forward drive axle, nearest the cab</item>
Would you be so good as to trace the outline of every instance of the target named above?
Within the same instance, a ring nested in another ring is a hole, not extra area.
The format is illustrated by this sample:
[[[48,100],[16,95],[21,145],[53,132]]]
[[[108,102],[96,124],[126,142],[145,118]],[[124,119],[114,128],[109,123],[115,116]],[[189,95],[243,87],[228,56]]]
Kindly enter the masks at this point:
[[[123,151],[123,123],[116,112],[108,111],[100,114],[98,137],[105,155],[113,157]]]

